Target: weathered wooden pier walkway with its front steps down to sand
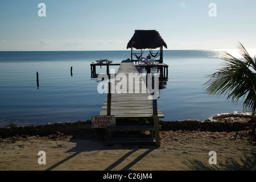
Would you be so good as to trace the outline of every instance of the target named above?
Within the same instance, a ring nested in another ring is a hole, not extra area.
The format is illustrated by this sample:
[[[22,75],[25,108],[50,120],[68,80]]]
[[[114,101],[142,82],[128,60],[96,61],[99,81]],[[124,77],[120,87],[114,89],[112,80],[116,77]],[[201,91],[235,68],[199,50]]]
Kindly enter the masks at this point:
[[[130,79],[134,79],[134,77],[129,77],[129,73],[138,73],[137,68],[132,61],[123,61],[120,63],[117,74],[118,73],[125,74],[127,77],[127,93],[112,93],[110,97],[111,102],[108,103],[109,98],[106,97],[106,100],[101,108],[99,115],[114,115],[114,117],[117,119],[116,126],[106,128],[106,131],[109,132],[109,138],[106,139],[106,144],[155,143],[156,146],[160,146],[158,118],[164,118],[164,115],[158,108],[156,100],[148,98],[151,96],[148,90],[146,93],[142,93],[141,90],[139,93],[135,93],[135,87],[133,86],[134,92],[129,92],[129,82],[133,81]],[[144,86],[146,87],[141,76],[139,76],[139,74],[134,75],[138,76],[138,78],[135,78],[135,80],[139,80],[139,88],[142,89]],[[118,81],[116,81],[115,85],[113,84],[112,86],[116,86],[117,83]],[[111,109],[108,110],[108,107]],[[118,119],[122,120],[122,123],[118,123]],[[129,121],[131,119],[135,119],[135,121],[136,119],[148,119],[149,122],[144,123],[143,125],[139,122],[130,123]],[[127,133],[129,131],[151,131],[151,135],[149,138],[113,138],[112,134],[114,132]]]

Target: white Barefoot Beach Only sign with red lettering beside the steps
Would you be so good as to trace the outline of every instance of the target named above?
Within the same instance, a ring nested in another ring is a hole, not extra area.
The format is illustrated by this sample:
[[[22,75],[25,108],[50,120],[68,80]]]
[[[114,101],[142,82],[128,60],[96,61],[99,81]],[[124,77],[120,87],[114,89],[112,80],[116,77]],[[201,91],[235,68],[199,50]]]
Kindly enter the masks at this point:
[[[115,126],[115,117],[113,115],[92,116],[92,128],[105,128]]]

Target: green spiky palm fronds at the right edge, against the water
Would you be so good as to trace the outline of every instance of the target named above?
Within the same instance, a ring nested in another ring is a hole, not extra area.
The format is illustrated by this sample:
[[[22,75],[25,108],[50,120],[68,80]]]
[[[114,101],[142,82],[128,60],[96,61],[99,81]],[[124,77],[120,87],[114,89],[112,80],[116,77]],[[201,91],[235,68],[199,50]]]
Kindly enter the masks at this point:
[[[237,46],[243,60],[225,52],[222,60],[225,67],[218,69],[216,73],[208,75],[205,82],[205,92],[210,95],[227,95],[227,100],[233,102],[240,98],[244,100],[243,110],[255,112],[256,106],[256,60],[251,58],[241,43]]]

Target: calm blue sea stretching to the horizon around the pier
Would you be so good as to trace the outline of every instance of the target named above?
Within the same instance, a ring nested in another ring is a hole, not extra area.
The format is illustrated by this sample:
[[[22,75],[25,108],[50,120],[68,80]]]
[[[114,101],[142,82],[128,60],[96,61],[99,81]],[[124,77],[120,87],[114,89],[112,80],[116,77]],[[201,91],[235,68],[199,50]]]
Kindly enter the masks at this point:
[[[204,92],[205,76],[222,66],[221,51],[165,50],[163,54],[169,65],[168,81],[158,99],[164,121],[204,121],[219,113],[242,111],[241,101],[233,104]],[[130,51],[0,52],[0,126],[76,122],[98,115],[106,94],[97,92],[90,63],[98,59],[121,62],[129,57]],[[97,68],[97,73],[106,73],[106,67]]]

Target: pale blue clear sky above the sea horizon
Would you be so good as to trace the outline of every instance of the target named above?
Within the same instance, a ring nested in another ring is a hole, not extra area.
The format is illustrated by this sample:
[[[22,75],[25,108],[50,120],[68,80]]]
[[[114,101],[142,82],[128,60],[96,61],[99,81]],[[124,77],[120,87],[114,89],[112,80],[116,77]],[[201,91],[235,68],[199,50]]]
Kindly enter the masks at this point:
[[[126,50],[134,30],[159,31],[168,49],[256,48],[256,1],[0,1],[0,51]]]

